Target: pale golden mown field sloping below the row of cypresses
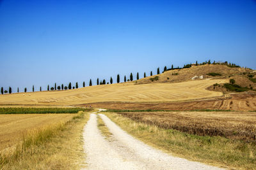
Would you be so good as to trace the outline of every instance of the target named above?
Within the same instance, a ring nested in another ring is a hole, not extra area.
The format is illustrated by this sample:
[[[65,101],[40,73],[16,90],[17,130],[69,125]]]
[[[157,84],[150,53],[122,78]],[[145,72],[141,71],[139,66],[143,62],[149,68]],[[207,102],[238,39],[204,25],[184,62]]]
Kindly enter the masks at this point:
[[[94,102],[159,102],[184,101],[222,96],[221,92],[205,90],[214,83],[226,83],[228,79],[194,80],[180,83],[134,82],[113,85],[95,85],[74,90],[31,92],[1,95],[0,104],[83,104]]]

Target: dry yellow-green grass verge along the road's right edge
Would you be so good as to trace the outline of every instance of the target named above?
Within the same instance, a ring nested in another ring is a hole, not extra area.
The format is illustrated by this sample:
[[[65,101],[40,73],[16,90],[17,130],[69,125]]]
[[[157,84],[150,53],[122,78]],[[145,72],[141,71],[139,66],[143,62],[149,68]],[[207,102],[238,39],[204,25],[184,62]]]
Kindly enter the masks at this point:
[[[134,137],[172,155],[230,169],[255,169],[256,147],[252,143],[220,136],[197,136],[135,122],[116,113],[104,114]]]

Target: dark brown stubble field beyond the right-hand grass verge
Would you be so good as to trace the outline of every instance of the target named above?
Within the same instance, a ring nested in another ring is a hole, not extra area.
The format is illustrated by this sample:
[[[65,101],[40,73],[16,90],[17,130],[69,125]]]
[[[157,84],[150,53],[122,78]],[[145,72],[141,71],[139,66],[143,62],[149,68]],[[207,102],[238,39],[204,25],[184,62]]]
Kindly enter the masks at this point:
[[[223,136],[256,144],[256,113],[233,111],[121,112],[137,122],[199,136]]]

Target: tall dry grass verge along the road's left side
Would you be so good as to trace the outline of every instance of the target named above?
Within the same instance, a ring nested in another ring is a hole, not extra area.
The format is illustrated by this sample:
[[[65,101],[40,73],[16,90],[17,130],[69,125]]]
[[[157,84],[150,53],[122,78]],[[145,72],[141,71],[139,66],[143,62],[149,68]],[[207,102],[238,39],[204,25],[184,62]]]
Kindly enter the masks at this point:
[[[66,114],[67,115],[67,114]],[[65,122],[27,132],[20,145],[2,153],[0,169],[80,169],[84,167],[83,127],[89,115],[80,112]]]

